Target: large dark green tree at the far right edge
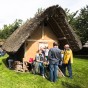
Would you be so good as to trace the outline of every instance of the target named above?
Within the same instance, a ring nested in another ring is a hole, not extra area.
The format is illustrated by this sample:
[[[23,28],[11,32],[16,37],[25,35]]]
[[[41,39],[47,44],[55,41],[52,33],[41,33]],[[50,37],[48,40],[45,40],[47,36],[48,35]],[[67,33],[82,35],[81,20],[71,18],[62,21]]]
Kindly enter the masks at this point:
[[[79,31],[82,42],[88,41],[88,6],[81,9],[76,18],[75,27]]]

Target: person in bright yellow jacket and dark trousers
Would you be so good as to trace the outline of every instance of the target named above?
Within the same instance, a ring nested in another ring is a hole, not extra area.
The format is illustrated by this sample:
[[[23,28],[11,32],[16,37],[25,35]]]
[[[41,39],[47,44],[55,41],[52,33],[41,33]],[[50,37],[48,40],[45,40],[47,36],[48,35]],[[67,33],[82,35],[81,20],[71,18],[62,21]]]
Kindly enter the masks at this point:
[[[72,50],[70,49],[69,45],[66,44],[64,46],[64,59],[63,59],[63,73],[66,75],[66,67],[69,73],[69,77],[72,78],[72,67],[71,63],[73,63],[73,54]]]

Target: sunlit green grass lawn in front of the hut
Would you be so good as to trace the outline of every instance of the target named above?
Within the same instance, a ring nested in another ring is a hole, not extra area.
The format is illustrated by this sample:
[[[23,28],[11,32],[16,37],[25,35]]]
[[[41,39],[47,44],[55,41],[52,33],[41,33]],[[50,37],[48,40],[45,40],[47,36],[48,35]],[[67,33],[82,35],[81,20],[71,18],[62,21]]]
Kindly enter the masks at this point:
[[[88,88],[87,59],[74,58],[73,79],[61,77],[52,83],[39,75],[9,70],[3,63],[6,57],[0,57],[0,88]]]

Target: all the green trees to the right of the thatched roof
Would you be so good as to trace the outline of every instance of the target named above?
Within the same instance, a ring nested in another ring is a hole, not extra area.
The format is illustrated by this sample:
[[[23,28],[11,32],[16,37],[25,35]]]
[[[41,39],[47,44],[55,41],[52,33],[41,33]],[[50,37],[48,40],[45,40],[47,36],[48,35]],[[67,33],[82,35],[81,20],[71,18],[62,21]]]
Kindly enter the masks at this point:
[[[82,43],[88,41],[88,6],[81,9],[79,15],[78,11],[70,13],[68,9],[65,9],[69,24],[73,27],[75,32],[80,36]]]

